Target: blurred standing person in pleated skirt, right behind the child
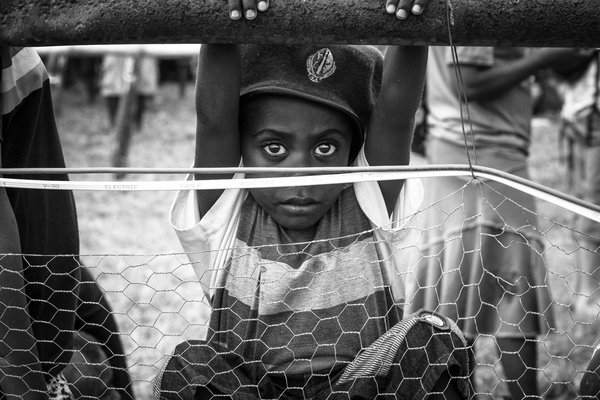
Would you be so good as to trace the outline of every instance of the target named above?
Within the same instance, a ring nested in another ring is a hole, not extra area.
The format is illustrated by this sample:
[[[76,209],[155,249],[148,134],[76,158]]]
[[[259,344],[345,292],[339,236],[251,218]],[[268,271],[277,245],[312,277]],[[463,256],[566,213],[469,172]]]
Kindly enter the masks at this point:
[[[430,48],[428,162],[470,161],[528,178],[530,77],[567,50],[458,47],[454,56],[452,50]],[[553,326],[553,315],[536,251],[542,242],[533,198],[471,177],[423,184],[424,205],[433,206],[418,226],[422,258],[408,287],[410,311],[426,308],[453,318],[471,343],[480,334],[494,336],[511,397],[537,396],[535,339]]]

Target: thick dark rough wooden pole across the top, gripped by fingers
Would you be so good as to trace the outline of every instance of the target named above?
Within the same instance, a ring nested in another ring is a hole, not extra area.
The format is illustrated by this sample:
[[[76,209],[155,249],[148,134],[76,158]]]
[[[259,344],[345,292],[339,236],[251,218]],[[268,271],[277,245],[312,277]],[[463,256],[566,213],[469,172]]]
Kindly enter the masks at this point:
[[[0,43],[453,43],[600,47],[598,0],[431,0],[399,21],[384,0],[272,0],[232,21],[225,0],[1,0]]]

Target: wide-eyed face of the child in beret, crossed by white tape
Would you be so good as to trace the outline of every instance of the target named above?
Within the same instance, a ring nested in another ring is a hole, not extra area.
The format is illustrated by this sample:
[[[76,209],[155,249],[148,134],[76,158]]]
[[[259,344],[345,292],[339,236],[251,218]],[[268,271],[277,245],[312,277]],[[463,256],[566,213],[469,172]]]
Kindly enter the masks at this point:
[[[347,166],[354,125],[341,111],[295,97],[260,95],[241,109],[247,167]],[[255,174],[274,176],[274,174]],[[257,203],[287,229],[309,229],[337,200],[343,185],[253,189]]]

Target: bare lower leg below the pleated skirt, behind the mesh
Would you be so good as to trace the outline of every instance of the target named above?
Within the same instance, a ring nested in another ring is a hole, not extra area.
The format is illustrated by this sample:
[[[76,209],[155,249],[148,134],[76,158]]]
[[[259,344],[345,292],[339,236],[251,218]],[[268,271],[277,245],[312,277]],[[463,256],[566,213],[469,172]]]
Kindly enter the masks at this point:
[[[525,338],[498,338],[496,342],[512,400],[539,396],[536,343]]]

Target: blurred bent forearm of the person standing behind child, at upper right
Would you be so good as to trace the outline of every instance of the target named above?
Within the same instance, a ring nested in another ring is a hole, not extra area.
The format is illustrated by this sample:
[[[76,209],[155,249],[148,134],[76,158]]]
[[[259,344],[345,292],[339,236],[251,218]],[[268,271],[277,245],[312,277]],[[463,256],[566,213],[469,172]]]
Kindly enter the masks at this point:
[[[461,87],[456,79],[452,85],[456,93],[464,93],[468,101],[486,101],[501,96],[537,71],[549,68],[575,56],[578,49],[538,49],[511,63],[493,67],[460,64]],[[460,60],[459,60],[460,63]],[[455,67],[451,67],[455,68]]]

